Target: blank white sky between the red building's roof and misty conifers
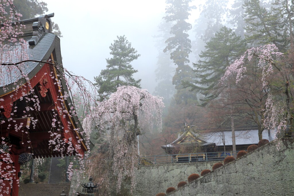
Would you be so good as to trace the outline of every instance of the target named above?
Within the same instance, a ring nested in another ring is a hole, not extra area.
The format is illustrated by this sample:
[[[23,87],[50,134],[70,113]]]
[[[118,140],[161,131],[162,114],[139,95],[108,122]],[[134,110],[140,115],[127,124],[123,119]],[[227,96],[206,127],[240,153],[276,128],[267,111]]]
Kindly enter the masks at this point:
[[[133,61],[141,87],[151,93],[155,84],[157,49],[153,36],[165,12],[165,0],[74,1],[44,0],[52,21],[59,25],[63,64],[93,81],[106,68],[109,46],[125,35],[141,56]]]

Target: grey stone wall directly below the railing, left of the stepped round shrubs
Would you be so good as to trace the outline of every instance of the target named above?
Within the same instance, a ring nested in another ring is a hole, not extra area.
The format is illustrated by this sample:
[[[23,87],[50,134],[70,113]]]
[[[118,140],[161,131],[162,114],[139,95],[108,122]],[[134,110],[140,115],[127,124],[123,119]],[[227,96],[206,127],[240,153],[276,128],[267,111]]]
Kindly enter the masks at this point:
[[[179,182],[187,180],[192,173],[200,175],[202,170],[210,169],[214,163],[217,162],[140,166],[135,171],[136,187],[132,195],[148,196],[156,195],[158,192],[165,192],[168,187],[176,187]]]

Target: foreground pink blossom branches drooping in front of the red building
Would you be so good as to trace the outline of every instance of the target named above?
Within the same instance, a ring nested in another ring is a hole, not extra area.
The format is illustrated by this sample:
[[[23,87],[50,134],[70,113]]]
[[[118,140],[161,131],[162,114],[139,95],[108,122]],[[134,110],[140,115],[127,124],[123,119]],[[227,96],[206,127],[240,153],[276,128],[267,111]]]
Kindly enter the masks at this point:
[[[6,12],[9,10],[9,12]],[[96,92],[97,89],[91,83],[91,81],[86,80],[81,76],[77,76],[66,69],[62,65],[52,61],[51,59],[43,59],[42,61],[29,60],[27,54],[27,43],[21,38],[24,33],[22,29],[25,26],[20,24],[21,14],[18,13],[17,9],[14,7],[11,0],[2,0],[0,4],[0,21],[1,21],[1,31],[0,31],[0,86],[3,87],[4,92],[12,92],[9,99],[11,99],[10,106],[12,107],[11,117],[8,119],[1,118],[0,125],[6,122],[14,123],[14,126],[9,125],[8,130],[14,130],[22,135],[21,145],[29,144],[28,149],[32,149],[30,141],[30,130],[36,129],[37,123],[39,121],[34,113],[38,113],[41,110],[40,100],[37,94],[34,92],[34,86],[30,83],[30,78],[25,70],[28,70],[29,64],[27,62],[38,62],[47,63],[54,66],[55,71],[48,74],[59,87],[59,92],[57,93],[57,102],[60,105],[57,106],[57,110],[53,111],[52,128],[49,130],[51,139],[49,140],[50,150],[57,151],[58,154],[65,156],[66,154],[78,154],[77,159],[80,163],[81,169],[84,168],[83,158],[87,157],[87,154],[83,157],[79,154],[81,149],[81,143],[84,142],[89,149],[89,136],[91,129],[84,129],[83,131],[75,128],[72,131],[76,131],[79,135],[83,135],[78,138],[69,138],[68,141],[61,139],[61,133],[64,132],[64,125],[60,122],[60,117],[64,119],[78,118],[83,119],[84,116],[91,110],[91,107],[96,105]],[[13,22],[14,21],[14,22]],[[42,65],[40,65],[42,66]],[[9,86],[12,84],[11,86]],[[6,86],[6,87],[5,87]],[[8,87],[7,87],[8,86]],[[30,126],[19,123],[17,124],[14,120],[16,112],[18,110],[14,96],[21,93],[20,101],[24,102],[25,107],[23,115],[20,118],[30,118]],[[74,100],[71,103],[69,100]],[[0,108],[4,108],[3,97],[0,98]],[[67,108],[65,103],[68,103],[70,108]],[[54,104],[54,103],[52,103]],[[78,116],[79,110],[83,112]],[[71,122],[67,121],[68,127],[71,126]],[[70,130],[65,130],[68,133]],[[24,134],[27,135],[28,141],[24,141]],[[78,140],[77,145],[73,145],[72,141],[74,139]],[[16,179],[15,167],[9,151],[11,150],[11,145],[9,144],[9,138],[0,138],[0,144],[7,146],[8,149],[5,151],[0,148],[0,196],[8,195],[11,191],[11,186],[13,180]],[[34,149],[32,149],[33,151]],[[31,151],[31,152],[32,152]],[[33,154],[32,154],[33,155]],[[71,164],[72,165],[72,164]],[[69,171],[71,173],[71,171]],[[8,186],[9,185],[9,186]]]

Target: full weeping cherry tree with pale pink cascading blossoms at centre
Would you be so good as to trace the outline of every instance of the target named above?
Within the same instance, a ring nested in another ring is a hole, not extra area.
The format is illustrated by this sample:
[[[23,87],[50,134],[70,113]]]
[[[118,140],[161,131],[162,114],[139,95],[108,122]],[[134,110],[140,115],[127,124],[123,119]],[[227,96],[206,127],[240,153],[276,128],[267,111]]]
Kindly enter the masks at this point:
[[[92,108],[91,116],[84,120],[86,129],[96,125],[100,133],[107,133],[106,144],[101,146],[106,150],[94,155],[99,161],[88,163],[88,168],[95,170],[88,173],[96,174],[106,195],[113,187],[120,192],[124,177],[131,179],[131,187],[135,186],[136,136],[141,130],[152,131],[154,125],[161,130],[163,107],[162,98],[133,86],[121,86],[108,100]]]

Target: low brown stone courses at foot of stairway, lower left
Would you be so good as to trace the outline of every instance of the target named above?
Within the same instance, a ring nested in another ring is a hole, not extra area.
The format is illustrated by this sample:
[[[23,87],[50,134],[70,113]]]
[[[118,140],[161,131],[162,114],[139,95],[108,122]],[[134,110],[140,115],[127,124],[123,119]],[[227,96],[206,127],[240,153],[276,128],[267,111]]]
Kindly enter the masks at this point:
[[[65,194],[69,194],[70,183],[61,184],[35,184],[27,183],[19,184],[19,196],[59,196],[64,190]]]

